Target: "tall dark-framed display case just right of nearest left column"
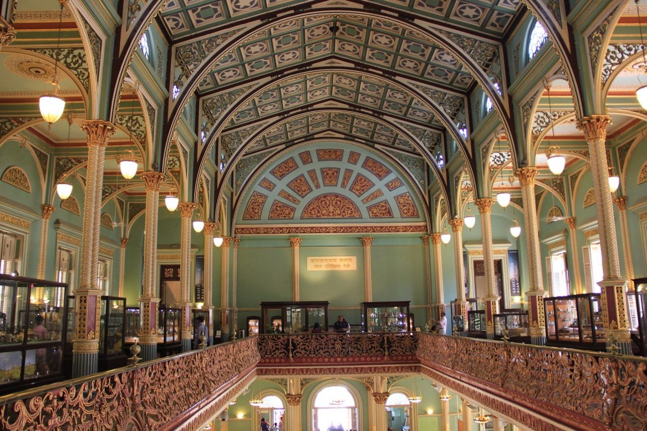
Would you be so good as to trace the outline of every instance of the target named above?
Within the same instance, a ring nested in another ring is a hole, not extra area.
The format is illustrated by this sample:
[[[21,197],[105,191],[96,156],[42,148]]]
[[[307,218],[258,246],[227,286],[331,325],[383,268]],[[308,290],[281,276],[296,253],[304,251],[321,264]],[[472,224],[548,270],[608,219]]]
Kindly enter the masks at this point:
[[[99,332],[99,371],[126,366],[124,333],[126,332],[126,298],[101,297]]]

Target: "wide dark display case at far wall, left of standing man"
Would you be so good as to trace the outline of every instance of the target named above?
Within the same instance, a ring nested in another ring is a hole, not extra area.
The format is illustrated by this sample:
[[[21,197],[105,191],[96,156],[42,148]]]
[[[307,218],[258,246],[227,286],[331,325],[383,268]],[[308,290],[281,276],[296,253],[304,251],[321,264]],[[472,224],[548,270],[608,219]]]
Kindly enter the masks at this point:
[[[261,326],[263,333],[307,332],[318,323],[323,331],[328,330],[328,302],[261,302]]]

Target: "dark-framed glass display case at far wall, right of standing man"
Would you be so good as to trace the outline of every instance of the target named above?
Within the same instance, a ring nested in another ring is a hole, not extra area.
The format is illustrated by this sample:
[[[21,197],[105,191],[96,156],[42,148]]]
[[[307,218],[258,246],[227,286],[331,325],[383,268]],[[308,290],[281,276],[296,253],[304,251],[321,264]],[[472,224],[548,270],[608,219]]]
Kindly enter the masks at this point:
[[[362,302],[364,332],[408,332],[410,301]]]

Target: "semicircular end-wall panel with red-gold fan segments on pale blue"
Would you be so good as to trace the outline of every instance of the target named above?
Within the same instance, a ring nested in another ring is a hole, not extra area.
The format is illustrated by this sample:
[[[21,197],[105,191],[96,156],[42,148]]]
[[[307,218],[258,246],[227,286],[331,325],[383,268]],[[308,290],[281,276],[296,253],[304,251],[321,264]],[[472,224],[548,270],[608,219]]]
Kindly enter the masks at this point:
[[[252,179],[237,224],[420,223],[418,196],[400,170],[365,148],[299,146]]]

